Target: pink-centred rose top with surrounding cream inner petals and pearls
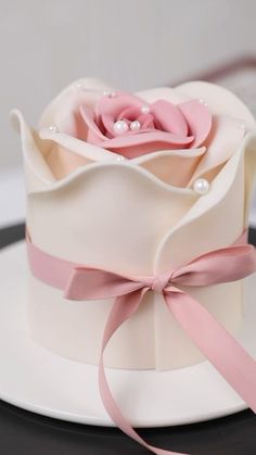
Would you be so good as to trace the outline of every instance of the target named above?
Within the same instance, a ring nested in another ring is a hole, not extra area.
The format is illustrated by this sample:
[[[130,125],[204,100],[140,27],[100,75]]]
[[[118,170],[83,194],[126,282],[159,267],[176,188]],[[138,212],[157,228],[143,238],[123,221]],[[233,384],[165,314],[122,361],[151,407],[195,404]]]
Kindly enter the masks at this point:
[[[200,178],[212,182],[242,141],[247,124],[240,104],[220,87],[201,81],[131,94],[82,79],[47,106],[26,143],[31,147],[35,138],[52,179],[78,167],[120,162],[143,168],[161,184],[193,188]],[[29,135],[22,114],[16,116]]]

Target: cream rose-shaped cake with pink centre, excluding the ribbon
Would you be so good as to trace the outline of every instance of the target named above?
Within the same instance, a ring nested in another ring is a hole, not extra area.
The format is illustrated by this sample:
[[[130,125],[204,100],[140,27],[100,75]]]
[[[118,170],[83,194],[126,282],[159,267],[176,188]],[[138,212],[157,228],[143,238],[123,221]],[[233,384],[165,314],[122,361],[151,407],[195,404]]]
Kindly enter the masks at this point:
[[[131,96],[98,80],[67,87],[22,136],[27,228],[35,245],[117,274],[157,275],[233,243],[247,228],[256,124],[223,88],[193,81]],[[235,333],[243,281],[190,294]],[[105,365],[172,369],[202,361],[175,318],[148,292],[114,334]],[[113,299],[76,302],[28,273],[33,339],[98,364]]]

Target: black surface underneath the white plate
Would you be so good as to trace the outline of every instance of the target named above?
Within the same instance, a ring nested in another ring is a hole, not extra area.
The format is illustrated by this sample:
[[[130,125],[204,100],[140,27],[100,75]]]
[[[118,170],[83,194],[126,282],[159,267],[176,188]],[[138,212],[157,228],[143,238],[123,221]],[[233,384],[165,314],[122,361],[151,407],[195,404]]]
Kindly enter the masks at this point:
[[[1,229],[0,248],[23,237],[24,225]],[[249,241],[256,244],[256,230],[249,231]],[[191,455],[256,455],[256,416],[248,409],[202,424],[139,432],[153,445]],[[146,453],[115,428],[68,424],[0,401],[0,455]]]

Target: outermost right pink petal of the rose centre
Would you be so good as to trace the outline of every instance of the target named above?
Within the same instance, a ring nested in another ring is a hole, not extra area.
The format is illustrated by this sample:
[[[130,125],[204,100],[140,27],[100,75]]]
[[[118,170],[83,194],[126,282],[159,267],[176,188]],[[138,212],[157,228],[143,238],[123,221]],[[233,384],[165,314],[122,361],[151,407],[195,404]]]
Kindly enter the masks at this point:
[[[179,104],[179,109],[184,115],[190,128],[190,134],[194,136],[194,141],[190,147],[201,146],[207,138],[212,127],[212,114],[205,104],[199,100],[192,100]]]

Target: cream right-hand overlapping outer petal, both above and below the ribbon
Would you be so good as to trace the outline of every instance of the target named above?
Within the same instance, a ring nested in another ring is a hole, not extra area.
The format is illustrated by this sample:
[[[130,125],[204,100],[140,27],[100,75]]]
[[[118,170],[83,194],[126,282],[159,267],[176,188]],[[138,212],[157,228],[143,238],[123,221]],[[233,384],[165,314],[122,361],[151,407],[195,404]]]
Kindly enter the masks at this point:
[[[155,274],[185,264],[210,250],[233,243],[247,227],[247,213],[252,185],[244,177],[245,166],[253,168],[256,177],[256,136],[248,135],[234,155],[227,162],[221,173],[212,182],[207,194],[200,198],[163,239],[155,256]],[[245,174],[246,175],[246,174]],[[251,181],[252,184],[252,181]],[[243,312],[243,281],[212,287],[188,287],[187,290],[204,305],[223,327],[235,333],[240,327]],[[183,349],[190,358],[202,358],[202,353],[182,332],[175,318],[156,295],[155,304],[155,367],[168,369],[180,364]],[[179,339],[179,351],[174,358],[167,355]]]

